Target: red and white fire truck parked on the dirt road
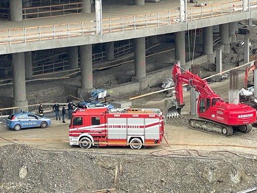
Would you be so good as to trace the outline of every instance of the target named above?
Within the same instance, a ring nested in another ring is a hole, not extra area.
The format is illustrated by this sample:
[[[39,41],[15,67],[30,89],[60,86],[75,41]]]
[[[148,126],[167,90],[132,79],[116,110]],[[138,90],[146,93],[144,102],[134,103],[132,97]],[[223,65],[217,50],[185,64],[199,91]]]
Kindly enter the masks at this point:
[[[151,108],[76,109],[71,118],[70,145],[128,146],[140,149],[162,142],[163,112]]]

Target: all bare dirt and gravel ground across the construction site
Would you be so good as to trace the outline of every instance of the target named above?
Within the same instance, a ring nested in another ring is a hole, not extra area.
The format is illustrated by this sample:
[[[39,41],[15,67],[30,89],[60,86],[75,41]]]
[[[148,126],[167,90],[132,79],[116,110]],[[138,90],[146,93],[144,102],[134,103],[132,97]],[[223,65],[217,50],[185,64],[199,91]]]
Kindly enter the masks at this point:
[[[254,27],[251,27],[254,45]],[[243,39],[243,36],[238,37]],[[257,45],[257,44],[255,44]],[[163,62],[172,59],[158,56]],[[242,52],[224,57],[224,70],[242,58]],[[155,57],[156,59],[156,57]],[[154,62],[154,60],[153,60]],[[208,65],[202,75],[211,75]],[[120,71],[112,68],[111,72]],[[108,72],[106,72],[108,74]],[[74,79],[74,85],[79,85]],[[244,73],[239,74],[242,88]],[[27,85],[30,104],[66,102],[66,84],[72,80],[34,82]],[[64,83],[64,84],[63,84]],[[116,84],[115,80],[109,84]],[[54,89],[47,88],[54,85]],[[40,88],[40,91],[33,88]],[[228,98],[229,80],[210,84],[213,91]],[[0,88],[12,96],[12,89]],[[161,90],[148,88],[116,98],[131,97]],[[167,93],[131,100],[133,107],[163,108]],[[257,128],[250,133],[235,132],[232,136],[191,130],[189,92],[184,93],[182,115],[165,121],[165,140],[160,146],[132,150],[130,147],[93,147],[84,150],[69,145],[69,120],[62,123],[52,117],[47,128],[24,129],[19,132],[0,126],[0,192],[238,192],[256,187]],[[109,189],[109,190],[107,190]],[[100,191],[101,190],[101,191]]]

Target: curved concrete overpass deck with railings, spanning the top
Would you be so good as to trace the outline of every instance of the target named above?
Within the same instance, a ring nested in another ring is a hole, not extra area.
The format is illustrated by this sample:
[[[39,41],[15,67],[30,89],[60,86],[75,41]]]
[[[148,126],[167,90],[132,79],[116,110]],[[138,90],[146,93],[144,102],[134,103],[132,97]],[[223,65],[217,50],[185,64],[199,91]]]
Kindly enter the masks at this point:
[[[147,37],[257,17],[257,1],[251,1],[250,11],[242,1],[198,2],[206,6],[187,3],[186,22],[179,22],[179,1],[144,6],[103,1],[100,34],[96,33],[95,13],[0,22],[0,54]]]

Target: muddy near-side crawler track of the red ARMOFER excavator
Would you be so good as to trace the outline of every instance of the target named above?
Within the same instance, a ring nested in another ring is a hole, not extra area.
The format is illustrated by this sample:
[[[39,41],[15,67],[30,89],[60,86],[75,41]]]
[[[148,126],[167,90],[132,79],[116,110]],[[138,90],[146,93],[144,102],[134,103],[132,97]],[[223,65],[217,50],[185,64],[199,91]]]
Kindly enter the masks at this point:
[[[231,136],[233,134],[232,126],[215,122],[204,118],[190,118],[189,127],[193,130],[207,132],[212,134],[220,134],[224,136]]]

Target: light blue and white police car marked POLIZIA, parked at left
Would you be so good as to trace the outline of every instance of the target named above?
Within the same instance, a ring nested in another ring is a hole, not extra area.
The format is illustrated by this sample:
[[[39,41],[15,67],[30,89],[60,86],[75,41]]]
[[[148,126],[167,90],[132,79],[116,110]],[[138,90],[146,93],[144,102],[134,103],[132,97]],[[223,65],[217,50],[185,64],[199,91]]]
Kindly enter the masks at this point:
[[[19,131],[22,128],[41,127],[46,128],[51,124],[51,119],[39,116],[31,112],[19,112],[10,114],[7,118],[6,125],[14,131]]]

